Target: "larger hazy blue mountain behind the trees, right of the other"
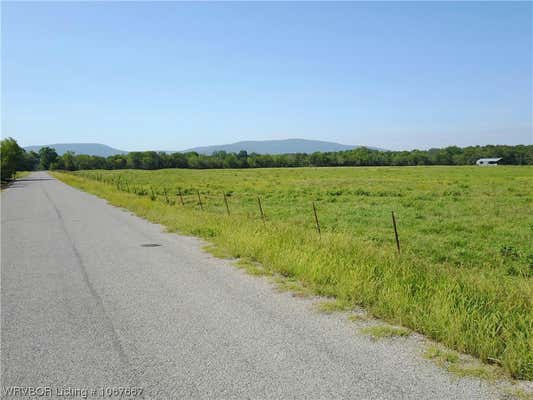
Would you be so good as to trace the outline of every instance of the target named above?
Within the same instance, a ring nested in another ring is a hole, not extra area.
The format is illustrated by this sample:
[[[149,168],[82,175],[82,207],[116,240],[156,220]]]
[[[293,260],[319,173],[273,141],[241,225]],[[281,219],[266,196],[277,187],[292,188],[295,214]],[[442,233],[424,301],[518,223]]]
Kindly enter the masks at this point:
[[[199,154],[210,155],[215,151],[238,153],[246,150],[248,153],[258,154],[285,154],[285,153],[314,153],[315,151],[342,151],[351,150],[361,146],[350,146],[320,140],[285,139],[285,140],[250,140],[232,144],[216,146],[194,147],[183,152],[195,151]],[[376,149],[380,150],[380,149]]]

